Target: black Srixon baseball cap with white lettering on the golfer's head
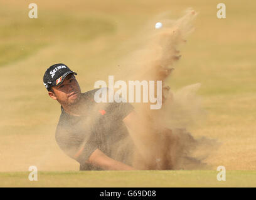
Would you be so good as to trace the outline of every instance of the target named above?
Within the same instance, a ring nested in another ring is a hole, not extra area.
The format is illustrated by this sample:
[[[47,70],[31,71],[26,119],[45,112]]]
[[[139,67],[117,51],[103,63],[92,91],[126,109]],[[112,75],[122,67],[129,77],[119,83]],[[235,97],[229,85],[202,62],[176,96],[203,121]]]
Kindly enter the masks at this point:
[[[51,86],[57,86],[61,84],[68,74],[75,74],[67,65],[58,63],[53,64],[50,68],[46,69],[45,75],[43,76],[43,84],[45,88],[50,91]]]

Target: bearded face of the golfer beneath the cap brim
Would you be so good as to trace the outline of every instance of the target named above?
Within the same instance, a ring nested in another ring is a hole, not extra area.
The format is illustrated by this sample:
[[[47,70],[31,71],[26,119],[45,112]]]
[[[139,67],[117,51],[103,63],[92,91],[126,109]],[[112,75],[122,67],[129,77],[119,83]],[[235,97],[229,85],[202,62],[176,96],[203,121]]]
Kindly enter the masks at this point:
[[[81,95],[80,86],[73,74],[68,74],[60,85],[51,88],[53,92],[48,92],[49,96],[61,105],[75,104]]]

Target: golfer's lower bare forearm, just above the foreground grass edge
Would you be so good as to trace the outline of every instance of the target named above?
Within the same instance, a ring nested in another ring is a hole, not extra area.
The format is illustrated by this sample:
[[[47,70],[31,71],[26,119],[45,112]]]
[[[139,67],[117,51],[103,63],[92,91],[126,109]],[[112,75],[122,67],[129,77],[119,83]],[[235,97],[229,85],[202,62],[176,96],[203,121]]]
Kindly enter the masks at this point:
[[[105,155],[102,151],[100,151],[100,149],[93,151],[88,159],[88,163],[104,170],[135,170],[131,166],[109,158],[109,156]]]

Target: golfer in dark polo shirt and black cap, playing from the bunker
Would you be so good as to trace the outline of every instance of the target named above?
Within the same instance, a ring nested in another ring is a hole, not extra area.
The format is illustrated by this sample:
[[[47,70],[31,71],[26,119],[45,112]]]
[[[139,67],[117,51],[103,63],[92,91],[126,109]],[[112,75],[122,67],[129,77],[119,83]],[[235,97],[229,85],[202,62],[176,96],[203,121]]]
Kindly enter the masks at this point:
[[[132,170],[132,140],[125,123],[132,118],[129,103],[95,103],[98,89],[81,93],[65,64],[46,69],[43,83],[61,105],[56,128],[58,146],[80,163],[80,170]]]

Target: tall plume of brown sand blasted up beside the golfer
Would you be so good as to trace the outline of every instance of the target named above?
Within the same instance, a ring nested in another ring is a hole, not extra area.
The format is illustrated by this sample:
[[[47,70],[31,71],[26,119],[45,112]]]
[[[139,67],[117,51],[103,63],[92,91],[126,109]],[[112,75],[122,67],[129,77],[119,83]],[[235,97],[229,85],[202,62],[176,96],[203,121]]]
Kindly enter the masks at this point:
[[[120,66],[129,69],[125,74],[118,74],[120,79],[163,82],[161,109],[151,110],[148,104],[135,105],[141,121],[135,130],[129,130],[136,144],[133,166],[137,169],[205,169],[208,166],[203,160],[209,154],[206,150],[215,149],[216,141],[195,139],[186,131],[205,115],[196,96],[200,84],[186,86],[177,92],[171,91],[166,84],[174,64],[181,58],[179,46],[186,43],[186,37],[194,30],[193,20],[197,14],[188,9],[176,21],[166,19],[167,15],[156,17],[163,23],[161,29],[152,29],[157,21],[151,21],[151,29],[146,27],[136,40],[137,50],[120,61]],[[146,134],[141,133],[142,127]]]

